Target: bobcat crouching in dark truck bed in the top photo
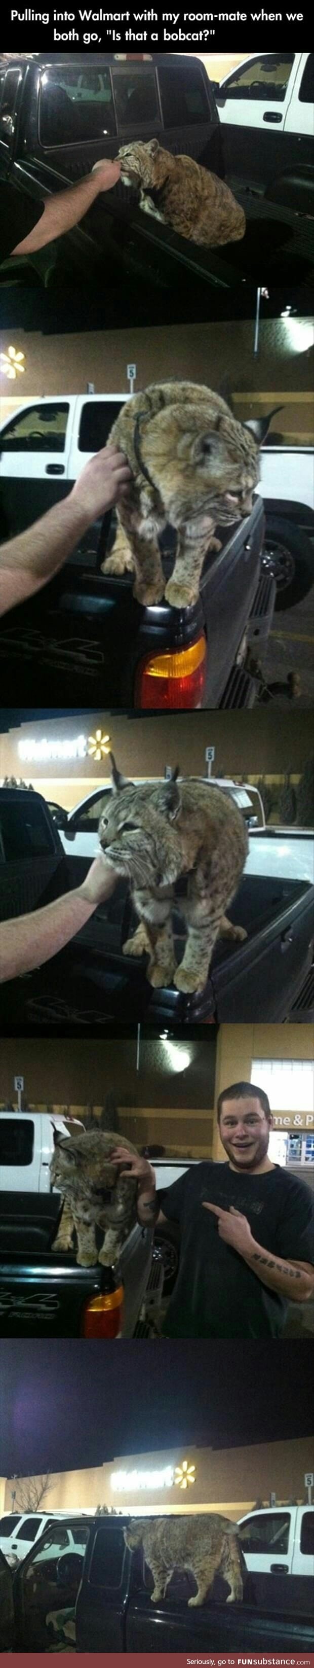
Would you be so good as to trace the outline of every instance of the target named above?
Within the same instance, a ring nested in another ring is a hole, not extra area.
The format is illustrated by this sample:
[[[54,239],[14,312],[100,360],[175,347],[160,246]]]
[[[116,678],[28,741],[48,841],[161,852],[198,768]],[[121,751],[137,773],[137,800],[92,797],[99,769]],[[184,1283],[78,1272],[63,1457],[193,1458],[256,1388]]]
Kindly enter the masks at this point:
[[[158,138],[121,145],[118,157],[123,185],[140,190],[140,208],[179,237],[208,247],[244,237],[246,215],[229,185],[193,157],[173,157]]]

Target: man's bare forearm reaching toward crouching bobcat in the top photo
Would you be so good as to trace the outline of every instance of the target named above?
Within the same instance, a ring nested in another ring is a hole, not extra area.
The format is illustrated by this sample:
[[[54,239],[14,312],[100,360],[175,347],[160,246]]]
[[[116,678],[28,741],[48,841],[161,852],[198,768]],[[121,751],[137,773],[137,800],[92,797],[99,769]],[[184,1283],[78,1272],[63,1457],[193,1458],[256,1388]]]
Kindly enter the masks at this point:
[[[70,185],[66,192],[47,197],[40,220],[22,244],[17,244],[13,255],[32,255],[35,249],[45,249],[55,237],[70,232],[88,212],[98,192],[98,175],[88,173],[86,180],[78,180],[78,185]]]

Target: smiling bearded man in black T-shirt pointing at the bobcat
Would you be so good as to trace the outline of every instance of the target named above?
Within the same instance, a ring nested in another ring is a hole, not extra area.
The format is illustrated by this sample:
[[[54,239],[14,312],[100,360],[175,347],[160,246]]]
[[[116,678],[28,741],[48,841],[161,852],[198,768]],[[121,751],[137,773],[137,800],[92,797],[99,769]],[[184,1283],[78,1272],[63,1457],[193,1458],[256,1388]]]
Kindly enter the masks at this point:
[[[223,1089],[218,1123],[226,1164],[193,1164],[166,1193],[155,1194],[155,1173],[138,1159],[140,1221],[155,1214],[159,1224],[179,1226],[179,1271],[163,1331],[279,1338],[287,1303],[312,1296],[309,1186],[267,1158],[272,1116],[262,1089]]]

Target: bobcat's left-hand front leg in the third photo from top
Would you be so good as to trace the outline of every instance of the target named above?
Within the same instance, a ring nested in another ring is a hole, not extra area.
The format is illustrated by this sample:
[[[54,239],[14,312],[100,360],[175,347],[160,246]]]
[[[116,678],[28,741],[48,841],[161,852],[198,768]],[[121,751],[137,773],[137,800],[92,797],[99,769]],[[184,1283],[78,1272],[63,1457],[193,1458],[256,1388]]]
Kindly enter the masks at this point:
[[[155,989],[161,989],[164,984],[173,984],[176,969],[173,894],[168,891],[166,897],[151,897],[150,892],[136,891],[135,907],[141,917],[140,926],[145,927],[150,947],[148,979]]]

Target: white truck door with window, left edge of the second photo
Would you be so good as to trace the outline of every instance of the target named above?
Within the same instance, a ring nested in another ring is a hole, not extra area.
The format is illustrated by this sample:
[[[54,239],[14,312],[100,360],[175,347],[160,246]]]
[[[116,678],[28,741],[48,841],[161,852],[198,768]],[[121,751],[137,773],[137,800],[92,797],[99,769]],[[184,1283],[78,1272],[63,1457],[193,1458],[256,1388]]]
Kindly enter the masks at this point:
[[[2,537],[23,532],[66,495],[70,404],[73,402],[32,402],[3,424]]]

